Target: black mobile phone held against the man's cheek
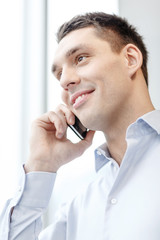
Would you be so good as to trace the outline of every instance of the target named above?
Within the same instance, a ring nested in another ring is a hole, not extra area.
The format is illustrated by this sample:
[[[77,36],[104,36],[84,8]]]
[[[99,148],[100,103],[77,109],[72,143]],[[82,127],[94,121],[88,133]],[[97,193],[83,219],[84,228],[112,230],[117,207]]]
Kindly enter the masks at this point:
[[[83,140],[87,134],[87,128],[83,126],[80,120],[75,116],[75,124],[68,125],[72,131],[81,139]]]

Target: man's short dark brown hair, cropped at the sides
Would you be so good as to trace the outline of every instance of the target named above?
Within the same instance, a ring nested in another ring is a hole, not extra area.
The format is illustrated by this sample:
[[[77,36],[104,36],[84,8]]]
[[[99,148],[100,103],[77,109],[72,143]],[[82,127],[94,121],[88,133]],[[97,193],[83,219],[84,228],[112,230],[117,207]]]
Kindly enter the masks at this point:
[[[130,25],[124,18],[103,12],[77,15],[59,28],[57,32],[58,43],[68,33],[89,26],[93,26],[97,30],[98,35],[101,38],[105,38],[115,52],[120,52],[128,43],[132,43],[139,48],[143,56],[142,72],[148,86],[148,52],[146,46],[142,36],[138,34],[135,27]]]

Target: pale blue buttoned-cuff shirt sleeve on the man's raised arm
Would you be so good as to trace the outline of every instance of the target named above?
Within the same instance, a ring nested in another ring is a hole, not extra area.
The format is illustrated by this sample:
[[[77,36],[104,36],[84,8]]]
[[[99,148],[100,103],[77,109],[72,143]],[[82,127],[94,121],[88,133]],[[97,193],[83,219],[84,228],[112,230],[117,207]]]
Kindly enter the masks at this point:
[[[25,174],[23,171],[19,190],[13,199],[7,201],[0,216],[0,239],[38,239],[42,230],[41,216],[48,206],[55,178],[55,173]]]

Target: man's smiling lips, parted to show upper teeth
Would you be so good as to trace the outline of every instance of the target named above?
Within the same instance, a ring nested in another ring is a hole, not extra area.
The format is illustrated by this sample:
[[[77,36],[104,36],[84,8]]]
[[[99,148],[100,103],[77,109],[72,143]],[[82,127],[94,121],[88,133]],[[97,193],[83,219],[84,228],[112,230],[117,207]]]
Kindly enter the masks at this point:
[[[91,94],[94,90],[84,90],[74,93],[71,96],[71,104],[74,108],[78,108],[80,105],[82,105],[89,97],[89,94]]]

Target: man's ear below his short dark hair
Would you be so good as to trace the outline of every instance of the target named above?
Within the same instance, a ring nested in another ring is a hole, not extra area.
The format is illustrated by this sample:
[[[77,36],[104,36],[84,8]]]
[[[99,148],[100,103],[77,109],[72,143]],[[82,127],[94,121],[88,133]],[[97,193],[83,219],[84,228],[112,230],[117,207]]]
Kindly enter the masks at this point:
[[[142,66],[142,53],[134,44],[131,43],[127,44],[123,50],[129,77],[133,78]]]

